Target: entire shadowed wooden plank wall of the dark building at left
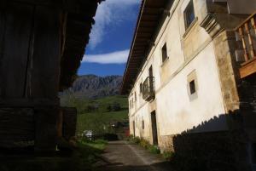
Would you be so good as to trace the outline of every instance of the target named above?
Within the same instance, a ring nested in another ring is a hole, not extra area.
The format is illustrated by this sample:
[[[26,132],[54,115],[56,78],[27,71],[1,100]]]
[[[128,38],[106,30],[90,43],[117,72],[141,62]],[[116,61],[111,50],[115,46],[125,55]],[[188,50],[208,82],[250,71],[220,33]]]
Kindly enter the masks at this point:
[[[0,97],[56,99],[61,11],[13,3],[1,11],[0,40]]]

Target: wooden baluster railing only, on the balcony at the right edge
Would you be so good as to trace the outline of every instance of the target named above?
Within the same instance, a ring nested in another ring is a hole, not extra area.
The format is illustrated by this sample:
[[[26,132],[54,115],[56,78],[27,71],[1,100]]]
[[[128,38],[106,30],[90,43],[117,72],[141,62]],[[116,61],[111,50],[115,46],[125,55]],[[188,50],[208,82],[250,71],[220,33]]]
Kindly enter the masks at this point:
[[[256,58],[256,13],[251,15],[236,28],[237,40],[243,48],[243,61],[248,62]]]

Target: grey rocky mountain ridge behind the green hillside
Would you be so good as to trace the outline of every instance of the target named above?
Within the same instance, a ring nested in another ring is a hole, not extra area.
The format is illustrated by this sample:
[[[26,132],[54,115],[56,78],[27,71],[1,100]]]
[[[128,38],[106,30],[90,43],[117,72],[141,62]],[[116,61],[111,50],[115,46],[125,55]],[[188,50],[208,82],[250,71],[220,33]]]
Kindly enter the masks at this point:
[[[81,76],[73,83],[73,87],[69,88],[64,94],[72,93],[77,97],[87,97],[90,99],[117,95],[119,94],[122,79],[123,77],[121,76]]]

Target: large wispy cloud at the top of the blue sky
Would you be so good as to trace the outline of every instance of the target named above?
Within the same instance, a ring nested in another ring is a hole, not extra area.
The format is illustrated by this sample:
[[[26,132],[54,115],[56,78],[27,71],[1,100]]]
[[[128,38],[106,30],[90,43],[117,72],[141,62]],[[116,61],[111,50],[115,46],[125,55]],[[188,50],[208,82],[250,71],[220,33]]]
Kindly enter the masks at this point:
[[[96,24],[90,33],[89,48],[96,48],[102,42],[103,37],[108,33],[108,26],[119,25],[121,21],[136,17],[137,14],[134,14],[131,7],[140,2],[141,0],[107,0],[102,2],[96,12]]]

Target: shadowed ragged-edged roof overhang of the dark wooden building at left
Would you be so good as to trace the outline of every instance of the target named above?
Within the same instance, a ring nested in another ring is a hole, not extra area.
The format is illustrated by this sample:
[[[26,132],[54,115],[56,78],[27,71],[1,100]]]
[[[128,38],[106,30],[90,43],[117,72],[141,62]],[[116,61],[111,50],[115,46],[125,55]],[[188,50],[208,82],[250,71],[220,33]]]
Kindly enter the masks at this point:
[[[84,57],[86,45],[89,43],[90,31],[95,20],[98,3],[102,0],[68,0],[66,33],[63,36],[65,45],[61,54],[60,90],[72,86],[77,78],[77,71]],[[77,3],[73,3],[77,2]]]

